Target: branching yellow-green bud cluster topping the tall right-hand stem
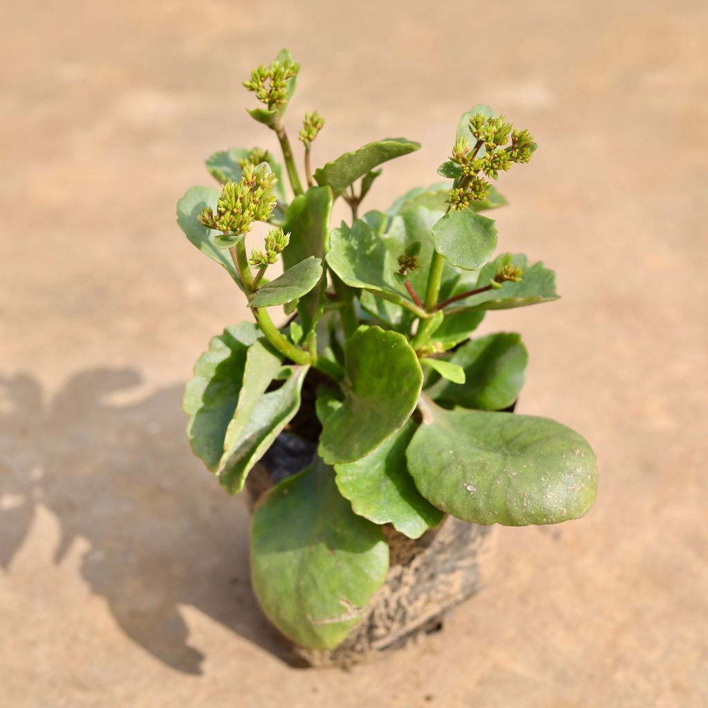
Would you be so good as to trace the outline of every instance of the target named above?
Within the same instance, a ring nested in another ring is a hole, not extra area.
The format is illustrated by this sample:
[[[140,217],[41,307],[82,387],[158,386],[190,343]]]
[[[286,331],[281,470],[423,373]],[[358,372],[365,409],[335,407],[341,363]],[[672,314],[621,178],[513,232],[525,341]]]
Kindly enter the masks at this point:
[[[477,113],[469,120],[469,130],[476,138],[474,147],[467,138],[459,138],[450,156],[462,171],[459,185],[450,190],[447,200],[451,209],[464,209],[470,202],[486,199],[490,188],[487,178],[496,180],[499,172],[507,171],[512,164],[528,162],[536,149],[530,132],[515,130],[503,115],[492,118]],[[482,147],[484,154],[478,156]]]

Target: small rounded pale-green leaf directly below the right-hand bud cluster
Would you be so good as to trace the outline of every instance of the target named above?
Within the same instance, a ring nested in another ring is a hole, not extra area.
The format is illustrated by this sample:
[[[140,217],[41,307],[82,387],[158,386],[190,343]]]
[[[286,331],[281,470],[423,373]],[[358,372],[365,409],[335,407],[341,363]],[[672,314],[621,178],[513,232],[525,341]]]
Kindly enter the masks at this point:
[[[496,249],[493,219],[472,210],[451,210],[433,226],[435,250],[452,265],[477,270],[489,261]]]

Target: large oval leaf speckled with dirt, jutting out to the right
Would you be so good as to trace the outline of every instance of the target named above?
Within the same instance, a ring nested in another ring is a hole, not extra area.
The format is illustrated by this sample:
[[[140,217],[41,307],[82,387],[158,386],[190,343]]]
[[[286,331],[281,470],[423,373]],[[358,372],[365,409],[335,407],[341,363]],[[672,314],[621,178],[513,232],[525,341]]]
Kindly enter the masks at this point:
[[[406,451],[418,490],[464,521],[554,524],[595,501],[595,453],[549,418],[426,405]]]

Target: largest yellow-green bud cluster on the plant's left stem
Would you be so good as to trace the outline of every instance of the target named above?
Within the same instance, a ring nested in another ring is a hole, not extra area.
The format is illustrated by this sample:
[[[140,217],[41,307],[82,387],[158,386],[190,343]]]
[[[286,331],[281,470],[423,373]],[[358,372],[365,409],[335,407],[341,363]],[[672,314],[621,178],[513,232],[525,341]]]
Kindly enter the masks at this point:
[[[224,233],[246,234],[254,221],[268,221],[273,214],[278,202],[273,194],[277,181],[268,164],[246,164],[241,181],[224,184],[216,213],[205,207],[200,222]]]

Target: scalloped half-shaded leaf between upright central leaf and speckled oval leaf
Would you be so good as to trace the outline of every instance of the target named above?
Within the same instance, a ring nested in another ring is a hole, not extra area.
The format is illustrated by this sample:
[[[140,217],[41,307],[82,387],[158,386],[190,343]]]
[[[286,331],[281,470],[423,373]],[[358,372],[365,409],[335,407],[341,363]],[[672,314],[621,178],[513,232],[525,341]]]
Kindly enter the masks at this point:
[[[421,537],[444,516],[421,496],[408,473],[406,447],[415,431],[409,420],[366,457],[334,467],[339,491],[355,513],[376,524],[390,523],[409,538]]]

